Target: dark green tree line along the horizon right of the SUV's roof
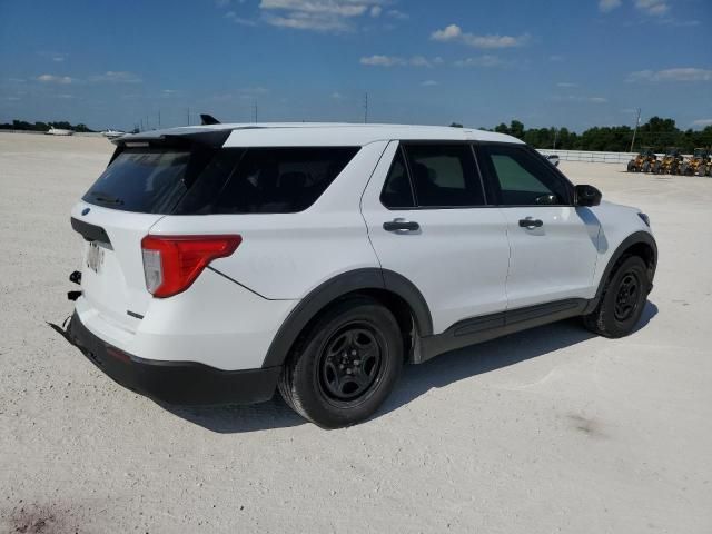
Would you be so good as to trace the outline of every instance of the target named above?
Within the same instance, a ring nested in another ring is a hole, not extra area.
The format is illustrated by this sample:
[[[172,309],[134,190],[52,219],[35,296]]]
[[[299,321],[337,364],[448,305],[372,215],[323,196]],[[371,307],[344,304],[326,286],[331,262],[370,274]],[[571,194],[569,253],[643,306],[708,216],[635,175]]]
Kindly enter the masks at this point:
[[[458,127],[461,125],[453,122]],[[486,129],[486,128],[485,128]],[[502,122],[488,131],[507,134],[523,140],[535,148],[560,150],[596,150],[606,152],[627,152],[633,141],[633,128],[630,126],[593,127],[583,134],[576,134],[567,128],[530,128],[526,129],[518,120],[510,125]],[[712,147],[712,126],[703,130],[681,130],[673,119],[652,117],[635,132],[634,151],[642,147],[651,147],[656,152],[664,152],[670,147],[676,147],[684,154],[691,154],[694,148]]]

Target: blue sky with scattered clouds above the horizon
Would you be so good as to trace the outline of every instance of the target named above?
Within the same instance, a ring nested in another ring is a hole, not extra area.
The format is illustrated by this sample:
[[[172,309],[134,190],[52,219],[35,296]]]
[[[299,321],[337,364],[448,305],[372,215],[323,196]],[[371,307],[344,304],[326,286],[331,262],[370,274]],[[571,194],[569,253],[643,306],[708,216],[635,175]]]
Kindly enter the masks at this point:
[[[711,0],[0,0],[0,121],[712,123]]]

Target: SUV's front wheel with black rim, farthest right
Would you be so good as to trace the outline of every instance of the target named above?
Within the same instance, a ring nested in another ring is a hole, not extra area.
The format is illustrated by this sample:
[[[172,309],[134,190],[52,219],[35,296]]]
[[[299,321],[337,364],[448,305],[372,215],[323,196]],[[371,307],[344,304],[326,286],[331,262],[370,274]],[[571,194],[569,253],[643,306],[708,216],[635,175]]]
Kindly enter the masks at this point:
[[[641,318],[650,280],[639,256],[624,258],[606,283],[599,306],[583,317],[587,329],[604,337],[627,336]]]

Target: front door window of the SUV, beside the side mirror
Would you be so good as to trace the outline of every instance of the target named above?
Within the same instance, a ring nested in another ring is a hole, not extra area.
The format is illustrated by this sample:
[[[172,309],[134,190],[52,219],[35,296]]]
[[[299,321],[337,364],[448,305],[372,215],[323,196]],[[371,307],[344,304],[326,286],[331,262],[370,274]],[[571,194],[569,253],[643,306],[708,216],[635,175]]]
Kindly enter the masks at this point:
[[[484,164],[496,180],[505,206],[561,206],[570,204],[568,187],[546,161],[510,145],[483,147]]]

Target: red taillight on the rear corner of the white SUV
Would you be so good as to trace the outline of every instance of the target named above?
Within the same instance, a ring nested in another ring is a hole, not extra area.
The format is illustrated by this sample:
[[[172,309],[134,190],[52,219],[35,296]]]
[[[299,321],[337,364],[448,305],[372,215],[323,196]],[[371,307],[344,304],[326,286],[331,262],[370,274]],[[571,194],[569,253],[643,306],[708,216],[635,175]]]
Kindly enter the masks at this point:
[[[240,236],[146,236],[146,289],[160,298],[185,291],[210,261],[231,255],[240,243]]]

